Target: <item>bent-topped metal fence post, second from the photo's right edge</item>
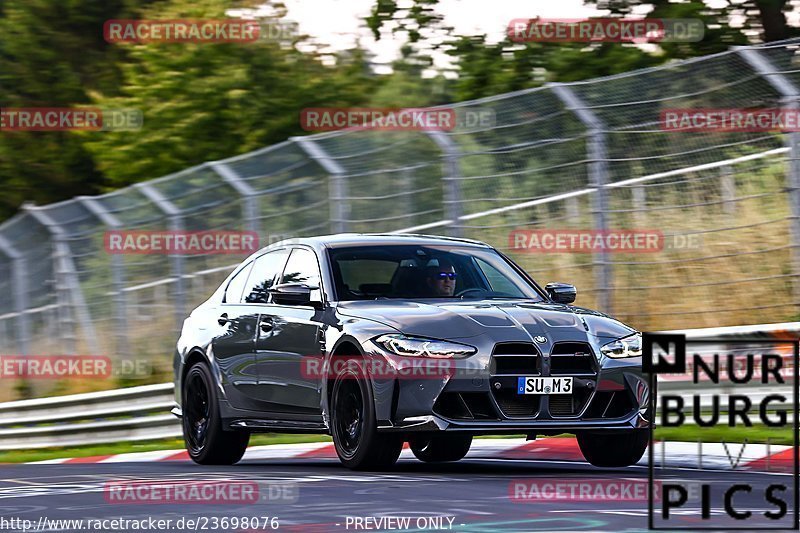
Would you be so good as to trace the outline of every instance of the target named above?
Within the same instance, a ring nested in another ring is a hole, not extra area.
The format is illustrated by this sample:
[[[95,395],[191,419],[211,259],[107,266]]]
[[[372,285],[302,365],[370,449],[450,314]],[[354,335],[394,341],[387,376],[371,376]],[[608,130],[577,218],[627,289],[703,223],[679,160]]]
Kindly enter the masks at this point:
[[[567,85],[551,83],[549,87],[561,100],[564,107],[575,113],[586,127],[586,155],[589,160],[589,185],[595,189],[592,197],[592,215],[595,230],[608,231],[608,156],[606,154],[606,132],[603,121],[581,101]],[[595,283],[597,284],[597,306],[613,314],[611,302],[612,265],[605,249],[594,254]]]

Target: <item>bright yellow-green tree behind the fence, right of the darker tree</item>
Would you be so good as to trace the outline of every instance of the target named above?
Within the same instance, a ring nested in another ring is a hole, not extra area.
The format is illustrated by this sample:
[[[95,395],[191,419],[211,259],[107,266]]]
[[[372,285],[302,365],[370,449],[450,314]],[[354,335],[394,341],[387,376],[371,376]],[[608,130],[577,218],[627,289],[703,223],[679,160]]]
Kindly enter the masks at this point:
[[[226,9],[223,0],[175,0],[145,16],[219,19]],[[281,17],[278,12],[272,20]],[[113,187],[303,134],[302,109],[363,104],[377,83],[363,50],[325,57],[304,36],[126,48],[121,95],[100,95],[96,103],[138,109],[144,126],[86,141]]]

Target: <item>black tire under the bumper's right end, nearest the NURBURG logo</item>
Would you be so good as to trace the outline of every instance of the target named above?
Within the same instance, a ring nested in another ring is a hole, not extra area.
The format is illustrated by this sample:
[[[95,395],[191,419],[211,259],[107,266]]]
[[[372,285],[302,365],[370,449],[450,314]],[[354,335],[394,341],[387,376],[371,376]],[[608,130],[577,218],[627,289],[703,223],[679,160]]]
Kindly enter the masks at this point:
[[[647,449],[647,430],[620,433],[578,433],[578,446],[594,466],[620,467],[639,462]]]

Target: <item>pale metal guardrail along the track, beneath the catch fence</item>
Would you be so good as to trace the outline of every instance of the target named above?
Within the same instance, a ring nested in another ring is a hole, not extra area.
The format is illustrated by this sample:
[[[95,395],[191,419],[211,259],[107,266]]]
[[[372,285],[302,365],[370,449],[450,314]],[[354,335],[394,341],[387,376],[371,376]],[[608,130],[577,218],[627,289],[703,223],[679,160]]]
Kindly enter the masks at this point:
[[[708,328],[684,333],[689,339],[770,335],[800,332],[800,322]],[[663,384],[680,391],[680,381]],[[774,390],[748,387],[754,404]],[[696,394],[697,390],[691,393]],[[711,394],[701,392],[701,406]],[[174,385],[160,383],[104,392],[38,398],[0,403],[0,450],[50,448],[140,441],[181,436],[181,425],[170,410],[174,407]]]

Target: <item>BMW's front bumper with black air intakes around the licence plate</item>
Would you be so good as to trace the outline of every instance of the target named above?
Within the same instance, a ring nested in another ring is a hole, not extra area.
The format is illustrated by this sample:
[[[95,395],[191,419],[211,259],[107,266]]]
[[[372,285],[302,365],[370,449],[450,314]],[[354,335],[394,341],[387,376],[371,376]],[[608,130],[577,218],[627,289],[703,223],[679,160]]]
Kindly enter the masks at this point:
[[[539,358],[533,363],[495,350],[477,366],[459,361],[452,375],[440,379],[375,380],[378,430],[546,435],[648,428],[650,390],[641,358],[609,359],[598,351],[592,346],[588,354],[561,354],[556,361],[551,347],[532,355]],[[518,395],[517,379],[525,376],[572,377],[575,389],[569,396]]]

